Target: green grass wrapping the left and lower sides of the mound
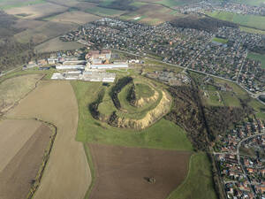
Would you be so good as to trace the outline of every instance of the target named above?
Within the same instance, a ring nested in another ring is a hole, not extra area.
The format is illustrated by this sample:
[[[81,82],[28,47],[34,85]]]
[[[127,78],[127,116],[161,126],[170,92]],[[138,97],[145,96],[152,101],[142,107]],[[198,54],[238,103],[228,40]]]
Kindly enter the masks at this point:
[[[102,83],[72,81],[72,88],[79,103],[77,141],[155,149],[193,150],[186,132],[165,119],[142,131],[116,128],[93,119],[87,106],[95,100]]]

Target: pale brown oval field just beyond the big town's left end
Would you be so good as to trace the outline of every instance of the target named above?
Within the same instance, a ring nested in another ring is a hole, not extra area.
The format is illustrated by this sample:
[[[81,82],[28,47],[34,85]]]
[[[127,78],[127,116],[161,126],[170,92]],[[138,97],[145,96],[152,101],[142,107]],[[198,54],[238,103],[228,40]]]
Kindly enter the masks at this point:
[[[83,11],[68,11],[53,17],[49,21],[64,22],[64,23],[69,22],[69,23],[82,25],[90,21],[94,21],[96,19],[100,18],[98,16]]]

